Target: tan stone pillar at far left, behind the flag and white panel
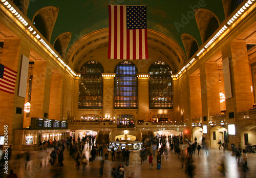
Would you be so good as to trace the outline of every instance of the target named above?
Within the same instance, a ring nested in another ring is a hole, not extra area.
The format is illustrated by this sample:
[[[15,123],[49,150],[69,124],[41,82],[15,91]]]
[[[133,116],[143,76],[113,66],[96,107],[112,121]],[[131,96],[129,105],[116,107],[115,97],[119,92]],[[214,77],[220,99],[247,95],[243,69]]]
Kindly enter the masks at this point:
[[[0,135],[4,136],[4,130],[7,130],[8,145],[12,144],[12,129],[23,128],[25,98],[18,96],[22,54],[29,56],[29,50],[26,48],[24,41],[14,38],[4,40],[3,54],[0,63],[17,72],[14,94],[0,91],[0,125],[2,127],[0,129]],[[17,112],[20,110],[22,113]]]

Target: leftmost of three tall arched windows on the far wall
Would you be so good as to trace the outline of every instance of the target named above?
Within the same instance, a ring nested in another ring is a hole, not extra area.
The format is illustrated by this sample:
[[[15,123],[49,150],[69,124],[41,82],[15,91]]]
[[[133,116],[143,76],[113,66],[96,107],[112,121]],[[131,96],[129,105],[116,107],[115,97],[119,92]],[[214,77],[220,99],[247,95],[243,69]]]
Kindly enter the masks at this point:
[[[102,65],[95,60],[88,61],[80,73],[78,108],[102,108]]]

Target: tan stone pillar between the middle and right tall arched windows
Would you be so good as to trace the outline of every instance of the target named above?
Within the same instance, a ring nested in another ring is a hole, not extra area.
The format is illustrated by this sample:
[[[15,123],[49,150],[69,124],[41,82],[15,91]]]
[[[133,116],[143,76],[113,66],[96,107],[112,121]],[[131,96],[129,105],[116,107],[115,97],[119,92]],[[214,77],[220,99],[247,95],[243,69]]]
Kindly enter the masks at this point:
[[[149,93],[148,93],[148,77],[150,74],[137,74],[138,77],[138,108],[139,120],[150,121],[148,119],[149,112]]]

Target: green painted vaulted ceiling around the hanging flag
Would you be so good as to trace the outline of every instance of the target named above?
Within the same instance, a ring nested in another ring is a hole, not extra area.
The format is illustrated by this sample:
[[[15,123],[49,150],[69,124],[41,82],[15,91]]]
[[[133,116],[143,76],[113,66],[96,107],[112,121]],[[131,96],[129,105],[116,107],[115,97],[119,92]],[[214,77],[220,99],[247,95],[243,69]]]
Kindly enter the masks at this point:
[[[69,49],[80,37],[109,27],[109,4],[147,5],[147,28],[173,38],[183,50],[184,46],[180,37],[183,33],[193,36],[201,46],[201,37],[193,12],[195,8],[204,8],[214,12],[220,23],[225,19],[221,0],[38,0],[30,1],[27,16],[32,20],[34,14],[41,8],[59,7],[51,43],[53,44],[60,34],[72,32]],[[187,17],[186,20],[185,17]]]

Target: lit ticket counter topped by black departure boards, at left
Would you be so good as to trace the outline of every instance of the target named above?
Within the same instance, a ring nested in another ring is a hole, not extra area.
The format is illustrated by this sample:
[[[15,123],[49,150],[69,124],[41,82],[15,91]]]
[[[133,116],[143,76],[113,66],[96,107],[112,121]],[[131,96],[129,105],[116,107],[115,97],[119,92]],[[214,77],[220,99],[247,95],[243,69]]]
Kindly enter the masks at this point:
[[[39,150],[39,142],[44,140],[67,139],[70,135],[68,122],[31,118],[31,125],[25,129],[13,130],[13,149],[19,151]]]

